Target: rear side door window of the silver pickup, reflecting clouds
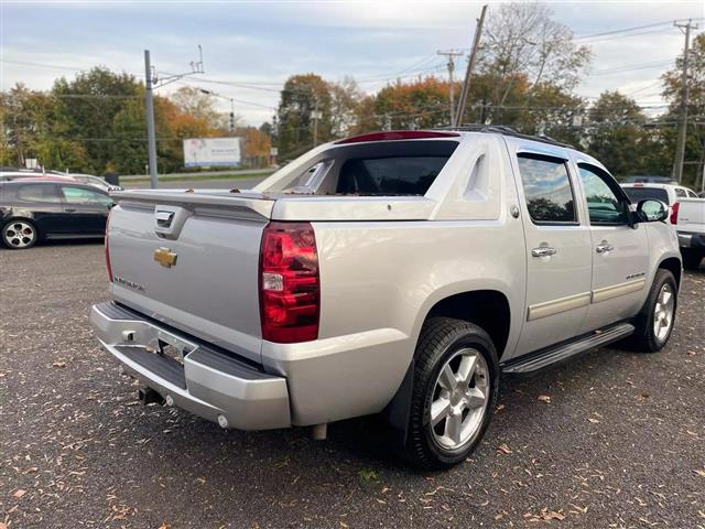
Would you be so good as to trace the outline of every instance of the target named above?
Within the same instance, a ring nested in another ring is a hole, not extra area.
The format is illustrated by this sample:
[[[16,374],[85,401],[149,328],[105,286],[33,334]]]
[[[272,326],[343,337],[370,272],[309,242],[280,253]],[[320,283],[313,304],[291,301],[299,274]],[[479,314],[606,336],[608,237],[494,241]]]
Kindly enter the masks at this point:
[[[562,160],[519,155],[527,208],[536,223],[574,223],[571,180]]]

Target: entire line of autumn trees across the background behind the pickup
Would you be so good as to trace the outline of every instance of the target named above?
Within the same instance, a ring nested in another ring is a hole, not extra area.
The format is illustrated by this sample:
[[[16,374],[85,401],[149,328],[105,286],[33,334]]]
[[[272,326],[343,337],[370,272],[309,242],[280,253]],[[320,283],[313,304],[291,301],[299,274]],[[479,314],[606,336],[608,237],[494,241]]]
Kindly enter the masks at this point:
[[[683,57],[654,83],[668,102],[654,112],[629,94],[605,91],[596,99],[576,95],[592,68],[592,52],[579,42],[544,4],[494,8],[463,122],[552,137],[586,150],[617,176],[670,175]],[[458,61],[457,66],[462,73],[465,63]],[[705,33],[693,40],[688,87],[684,181],[695,184],[705,162]],[[285,162],[314,144],[350,134],[448,126],[451,88],[437,72],[402,75],[375,93],[366,93],[351,77],[330,82],[313,73],[292,75],[272,121],[259,128],[238,123],[235,133],[246,138],[249,164],[268,162],[270,147],[276,147],[279,160]],[[453,88],[459,94],[460,83]],[[160,172],[183,169],[184,138],[230,133],[227,115],[218,112],[213,97],[203,91],[183,87],[169,97],[155,96]],[[144,86],[131,75],[96,67],[72,80],[57,79],[48,91],[19,84],[0,94],[0,164],[36,158],[52,169],[145,171]]]

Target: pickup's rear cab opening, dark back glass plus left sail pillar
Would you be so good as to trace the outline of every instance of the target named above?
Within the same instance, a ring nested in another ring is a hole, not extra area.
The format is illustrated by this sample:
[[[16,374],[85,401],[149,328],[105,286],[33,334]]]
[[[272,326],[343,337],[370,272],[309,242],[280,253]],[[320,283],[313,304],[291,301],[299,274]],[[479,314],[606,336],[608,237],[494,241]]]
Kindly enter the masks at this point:
[[[452,140],[376,141],[333,147],[265,191],[360,196],[422,196],[457,148]]]

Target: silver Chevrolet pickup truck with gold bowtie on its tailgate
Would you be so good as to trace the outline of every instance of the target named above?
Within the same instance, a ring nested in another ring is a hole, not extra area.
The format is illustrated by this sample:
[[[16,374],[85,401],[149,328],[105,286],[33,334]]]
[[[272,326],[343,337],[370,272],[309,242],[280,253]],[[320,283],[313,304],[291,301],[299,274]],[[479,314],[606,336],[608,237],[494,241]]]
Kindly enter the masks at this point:
[[[501,128],[321,145],[251,191],[113,194],[100,344],[223,428],[383,413],[423,468],[462,462],[500,375],[629,338],[657,352],[682,264],[659,201]]]

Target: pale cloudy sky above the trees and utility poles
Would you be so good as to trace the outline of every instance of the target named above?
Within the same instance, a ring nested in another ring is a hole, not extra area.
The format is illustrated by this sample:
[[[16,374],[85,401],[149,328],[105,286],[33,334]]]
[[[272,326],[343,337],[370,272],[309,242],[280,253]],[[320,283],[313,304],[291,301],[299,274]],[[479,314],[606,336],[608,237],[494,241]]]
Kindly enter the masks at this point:
[[[632,95],[659,110],[659,76],[683,48],[674,19],[699,19],[705,2],[549,2],[576,36],[663,23],[584,39],[592,73],[577,88]],[[398,76],[445,76],[438,50],[470,45],[480,2],[12,2],[0,3],[0,87],[51,88],[58,76],[104,65],[144,76],[143,50],[160,72],[183,73],[203,46],[204,75],[183,82],[235,98],[250,125],[270,120],[289,75],[328,80],[352,76],[373,91]],[[490,2],[490,13],[497,3]],[[29,64],[32,63],[32,64]],[[458,65],[464,69],[465,63]],[[216,83],[218,82],[218,83]],[[169,93],[184,86],[160,88]],[[218,100],[223,110],[226,100]]]

